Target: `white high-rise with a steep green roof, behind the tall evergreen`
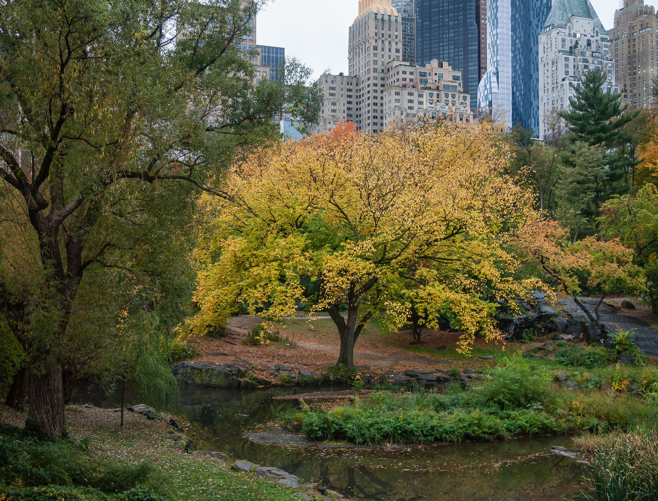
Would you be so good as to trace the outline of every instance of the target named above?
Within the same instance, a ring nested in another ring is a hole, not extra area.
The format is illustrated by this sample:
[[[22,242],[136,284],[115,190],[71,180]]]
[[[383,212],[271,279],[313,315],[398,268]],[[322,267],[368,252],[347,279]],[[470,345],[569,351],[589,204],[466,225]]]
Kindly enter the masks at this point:
[[[590,70],[604,70],[603,92],[619,92],[615,63],[607,55],[609,38],[588,0],[553,3],[539,36],[540,103],[539,138],[547,134],[545,119],[551,111],[570,107],[574,88]]]

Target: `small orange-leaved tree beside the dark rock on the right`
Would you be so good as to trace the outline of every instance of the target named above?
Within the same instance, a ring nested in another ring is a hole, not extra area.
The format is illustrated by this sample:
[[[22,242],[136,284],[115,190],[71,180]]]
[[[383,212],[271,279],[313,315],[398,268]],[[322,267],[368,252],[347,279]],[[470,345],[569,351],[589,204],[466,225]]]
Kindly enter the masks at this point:
[[[556,221],[537,221],[526,228],[524,250],[538,261],[547,281],[571,296],[599,332],[599,307],[607,295],[645,290],[644,270],[633,264],[633,250],[624,247],[619,238],[603,241],[588,236],[572,242],[568,228]],[[584,288],[601,294],[594,315],[578,299]]]

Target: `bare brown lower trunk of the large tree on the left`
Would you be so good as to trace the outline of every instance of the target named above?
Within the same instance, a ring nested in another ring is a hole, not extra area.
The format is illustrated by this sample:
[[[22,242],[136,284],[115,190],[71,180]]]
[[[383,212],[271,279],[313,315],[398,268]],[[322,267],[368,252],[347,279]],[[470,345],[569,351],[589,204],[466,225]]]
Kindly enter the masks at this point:
[[[64,431],[64,394],[62,367],[47,359],[41,371],[30,377],[30,417],[39,425],[42,435],[60,438]]]

